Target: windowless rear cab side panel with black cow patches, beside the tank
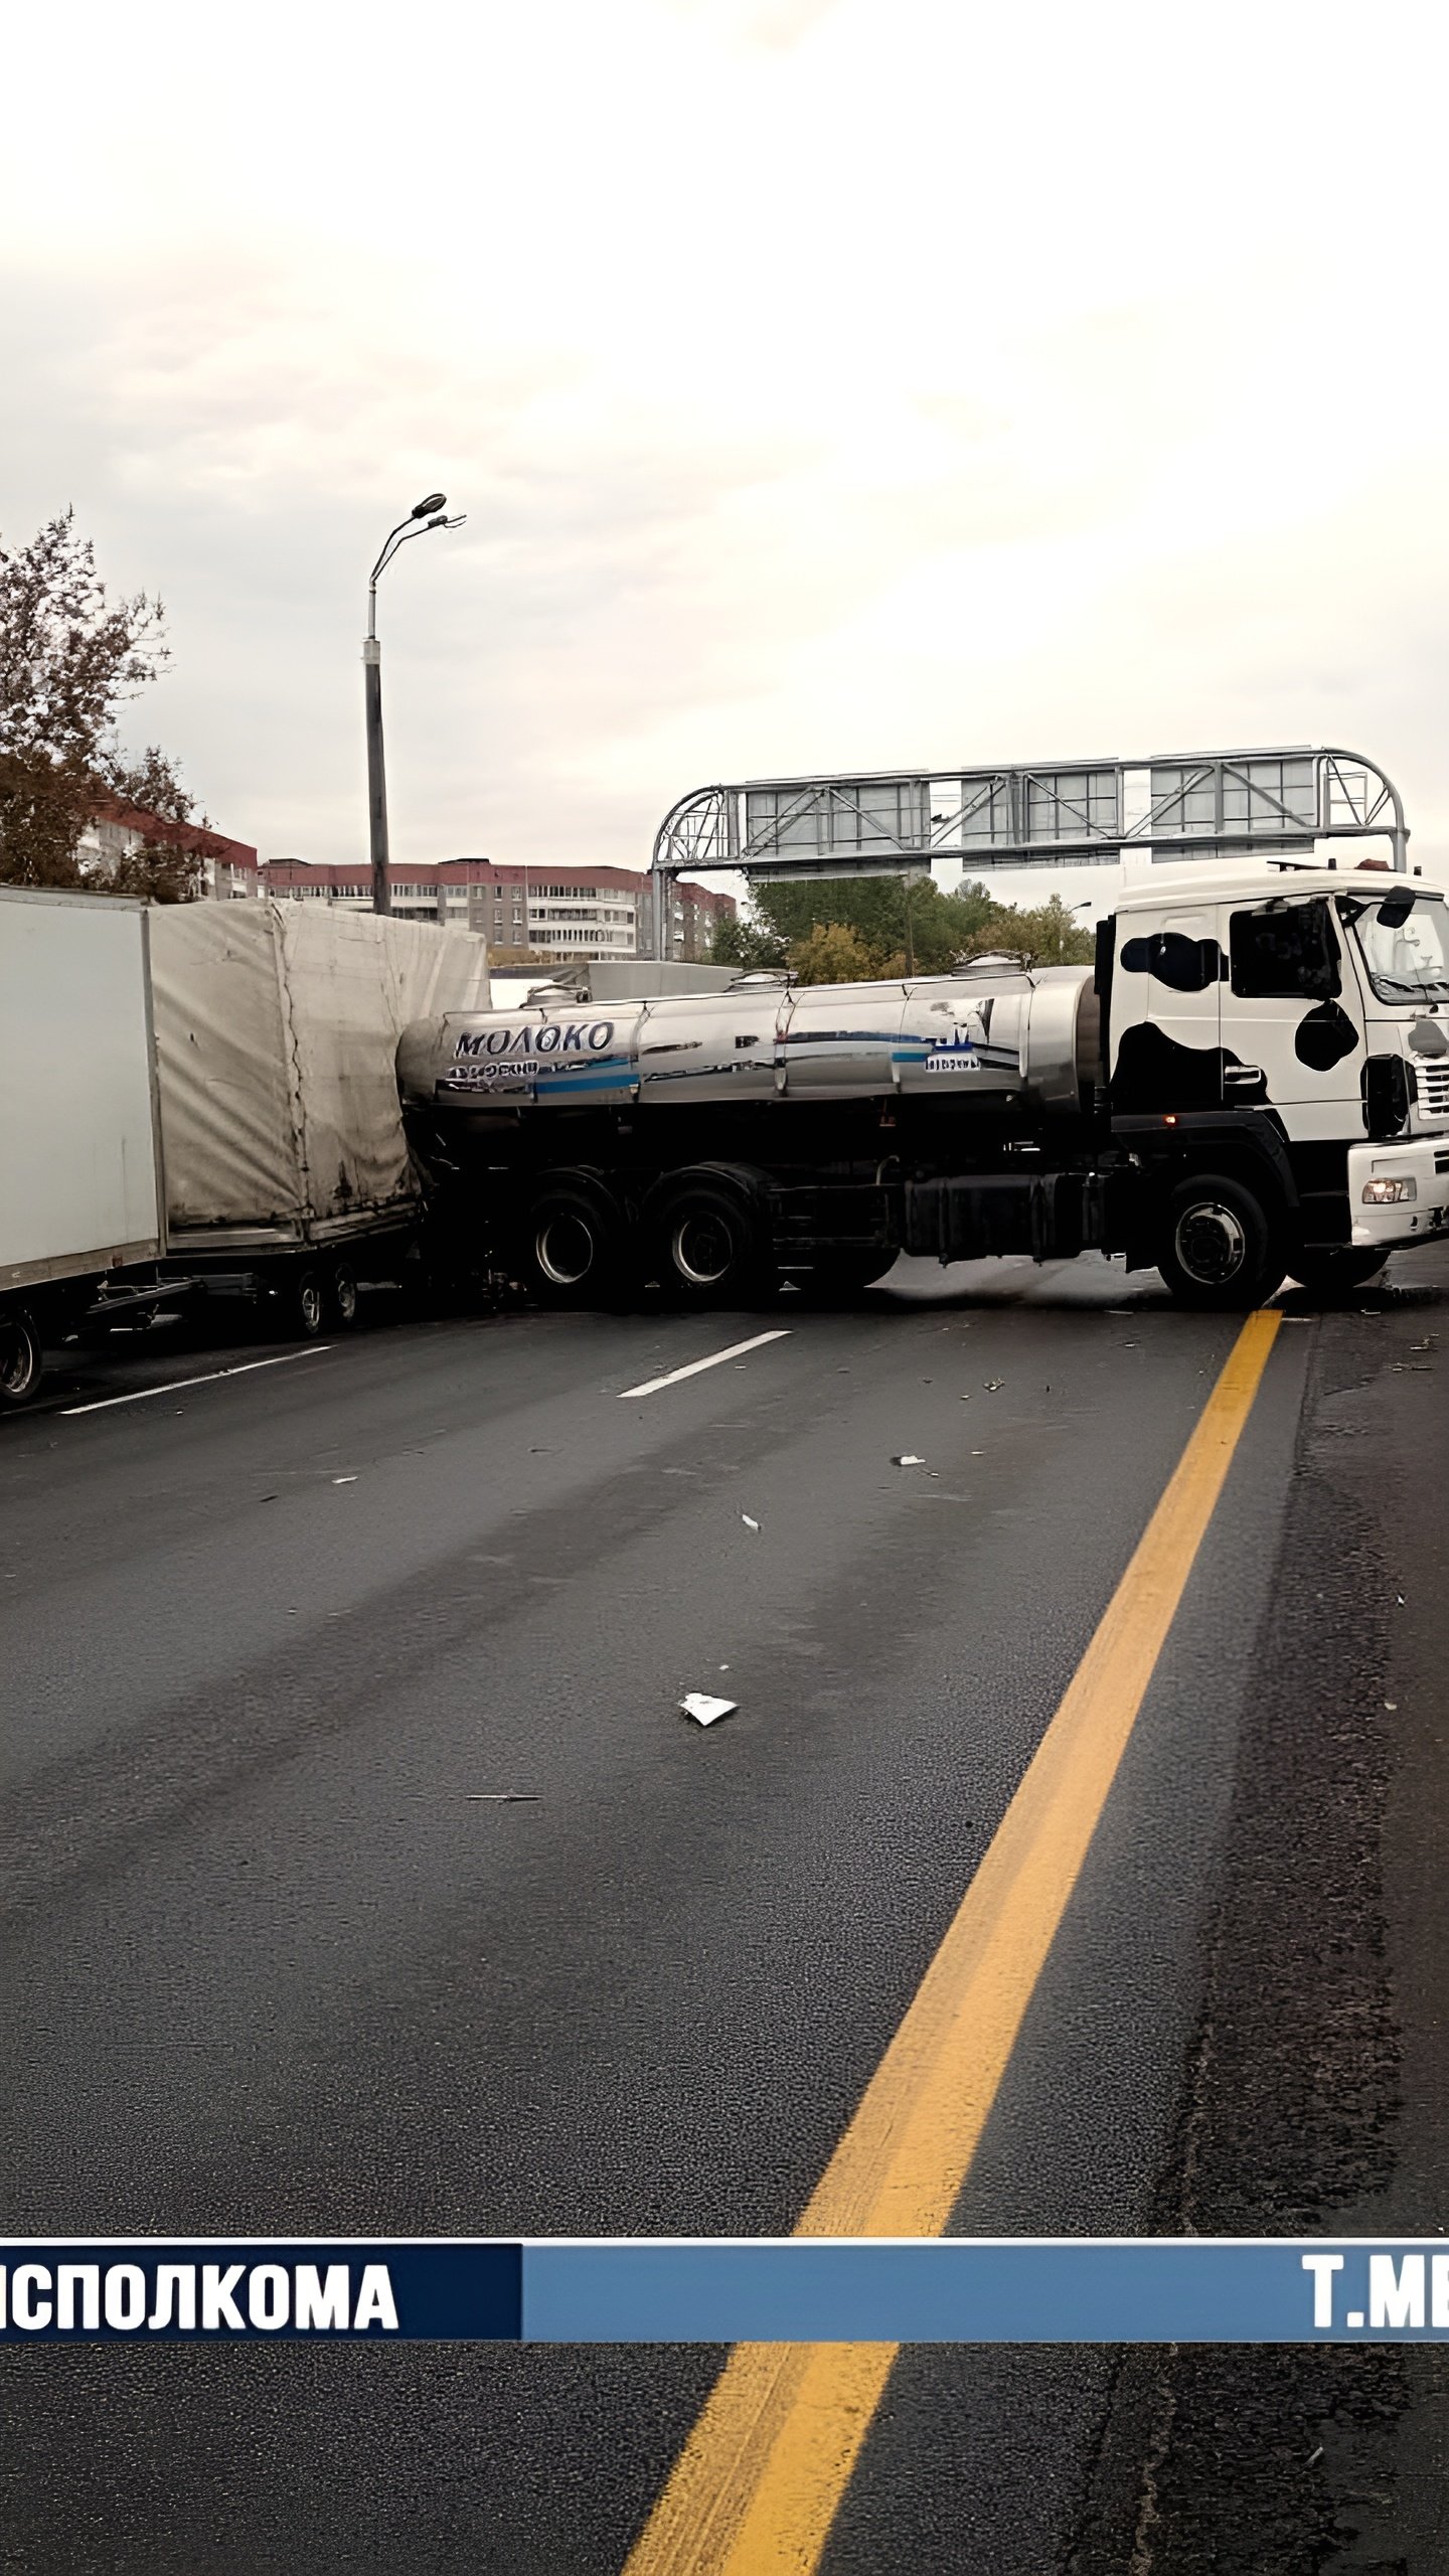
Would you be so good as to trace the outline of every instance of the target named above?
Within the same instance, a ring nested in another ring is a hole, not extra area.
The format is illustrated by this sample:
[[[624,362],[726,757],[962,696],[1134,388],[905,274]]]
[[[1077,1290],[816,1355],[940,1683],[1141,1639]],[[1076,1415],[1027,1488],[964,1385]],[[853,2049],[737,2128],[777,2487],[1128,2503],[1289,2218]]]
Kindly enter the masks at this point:
[[[1217,904],[1122,912],[1111,979],[1114,1110],[1222,1105]]]

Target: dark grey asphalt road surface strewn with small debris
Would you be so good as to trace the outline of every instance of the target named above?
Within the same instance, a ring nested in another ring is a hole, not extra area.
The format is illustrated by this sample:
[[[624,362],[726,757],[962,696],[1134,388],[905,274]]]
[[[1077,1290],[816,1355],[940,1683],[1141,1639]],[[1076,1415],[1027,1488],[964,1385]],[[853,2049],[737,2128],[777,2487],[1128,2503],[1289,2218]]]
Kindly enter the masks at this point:
[[[1446,1291],[1287,1298],[954,2228],[1449,2226]],[[67,1355],[0,1427],[0,2223],[786,2233],[1232,1340],[902,1262]],[[8,2347],[0,2563],[603,2576],[719,2360]],[[1436,2354],[1346,2360],[908,2352],[822,2566],[1441,2568]]]

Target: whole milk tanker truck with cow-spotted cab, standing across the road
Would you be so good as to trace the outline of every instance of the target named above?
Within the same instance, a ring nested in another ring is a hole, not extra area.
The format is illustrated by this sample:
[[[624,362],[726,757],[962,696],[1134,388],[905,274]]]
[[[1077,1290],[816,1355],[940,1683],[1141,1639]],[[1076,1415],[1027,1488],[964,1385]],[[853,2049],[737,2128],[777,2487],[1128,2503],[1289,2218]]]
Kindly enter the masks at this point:
[[[1364,871],[1160,873],[1096,969],[544,989],[407,1028],[397,1072],[438,1206],[549,1303],[1091,1247],[1250,1306],[1348,1291],[1449,1216],[1444,899]]]

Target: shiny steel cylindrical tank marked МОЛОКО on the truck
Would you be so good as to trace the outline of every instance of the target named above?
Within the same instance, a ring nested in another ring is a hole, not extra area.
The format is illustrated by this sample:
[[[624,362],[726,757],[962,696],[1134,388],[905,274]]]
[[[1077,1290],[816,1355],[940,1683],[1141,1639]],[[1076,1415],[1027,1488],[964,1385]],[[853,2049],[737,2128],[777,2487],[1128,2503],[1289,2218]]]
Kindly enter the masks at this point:
[[[1073,1113],[1098,1077],[1091,966],[980,958],[944,976],[789,984],[415,1020],[397,1048],[405,1108],[691,1105],[719,1100],[1018,1100]]]

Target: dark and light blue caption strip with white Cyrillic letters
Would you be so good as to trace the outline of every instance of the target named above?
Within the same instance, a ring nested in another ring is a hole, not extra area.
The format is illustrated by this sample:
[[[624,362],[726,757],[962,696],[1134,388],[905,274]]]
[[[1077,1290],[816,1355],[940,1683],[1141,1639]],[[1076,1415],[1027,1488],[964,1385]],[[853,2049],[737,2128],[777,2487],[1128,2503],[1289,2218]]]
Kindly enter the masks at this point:
[[[21,2239],[0,2342],[1312,2344],[1449,2336],[1446,2239]]]

